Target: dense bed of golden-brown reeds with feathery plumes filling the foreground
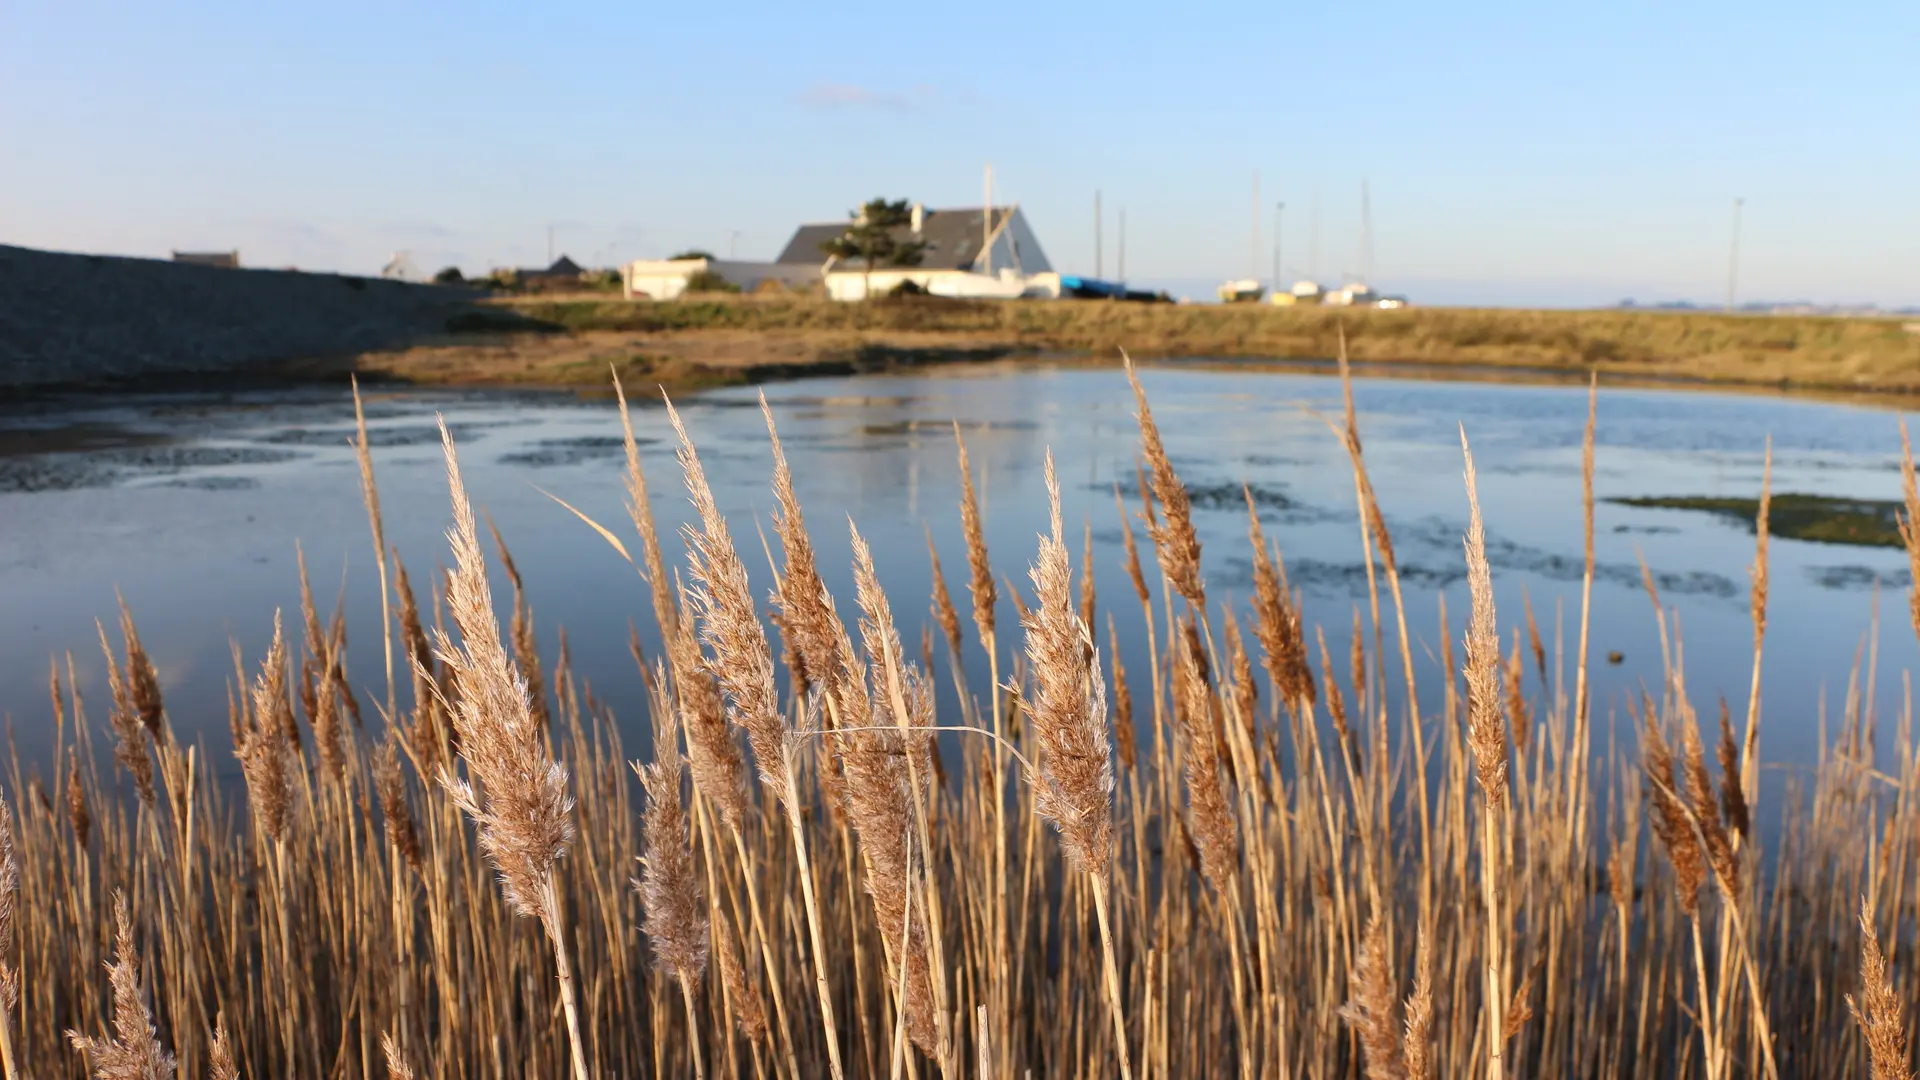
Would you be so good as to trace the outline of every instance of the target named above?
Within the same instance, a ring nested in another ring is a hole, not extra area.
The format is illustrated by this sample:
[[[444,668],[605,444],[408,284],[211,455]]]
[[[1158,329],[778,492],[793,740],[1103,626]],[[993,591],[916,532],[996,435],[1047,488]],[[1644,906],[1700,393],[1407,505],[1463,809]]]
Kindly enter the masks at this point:
[[[173,734],[131,613],[102,628],[109,700],[52,665],[54,769],[15,755],[0,803],[8,1080],[1912,1074],[1910,709],[1876,757],[1857,671],[1818,769],[1763,815],[1764,498],[1743,732],[1724,703],[1699,719],[1649,577],[1665,678],[1601,753],[1592,419],[1580,644],[1549,655],[1530,609],[1496,611],[1463,432],[1471,609],[1442,609],[1423,688],[1352,405],[1329,425],[1371,619],[1338,665],[1252,500],[1252,596],[1206,588],[1219,553],[1133,386],[1133,596],[1096,607],[1050,461],[1031,552],[987,552],[968,480],[937,527],[968,544],[973,625],[935,563],[918,655],[895,611],[925,598],[889,598],[858,532],[856,596],[822,586],[772,413],[774,594],[678,415],[695,515],[670,567],[622,400],[637,536],[595,528],[664,642],[634,644],[641,761],[564,636],[538,648],[505,548],[503,632],[451,438],[451,571],[419,594],[363,452],[384,682],[346,671],[311,590],[271,648],[234,648],[232,748]],[[995,573],[1020,563],[1025,588]],[[1114,655],[1131,619],[1146,673]],[[244,788],[213,780],[227,753]]]

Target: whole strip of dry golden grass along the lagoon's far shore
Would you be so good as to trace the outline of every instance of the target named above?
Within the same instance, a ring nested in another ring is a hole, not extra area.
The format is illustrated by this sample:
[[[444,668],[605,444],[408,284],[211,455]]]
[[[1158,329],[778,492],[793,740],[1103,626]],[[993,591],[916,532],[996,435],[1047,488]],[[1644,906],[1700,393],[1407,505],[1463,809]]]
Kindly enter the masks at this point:
[[[691,392],[799,371],[979,361],[1031,354],[1334,357],[1409,365],[1423,377],[1695,380],[1824,392],[1920,392],[1920,336],[1901,319],[1254,304],[960,302],[837,304],[804,296],[676,302],[520,298],[513,309],[564,332],[449,334],[367,354],[367,379]],[[1342,342],[1344,338],[1344,342]],[[336,377],[340,361],[303,365]]]

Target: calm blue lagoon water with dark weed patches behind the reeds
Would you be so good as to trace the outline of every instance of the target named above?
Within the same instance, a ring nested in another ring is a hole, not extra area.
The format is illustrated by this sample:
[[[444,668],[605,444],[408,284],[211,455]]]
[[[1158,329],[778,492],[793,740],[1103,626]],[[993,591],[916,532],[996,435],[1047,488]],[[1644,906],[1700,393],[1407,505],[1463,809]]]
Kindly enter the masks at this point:
[[[1175,467],[1194,492],[1210,598],[1242,605],[1252,586],[1246,502],[1306,594],[1309,625],[1327,632],[1334,673],[1348,680],[1354,611],[1369,607],[1359,519],[1346,455],[1311,415],[1338,415],[1340,386],[1317,375],[1167,363],[1142,375]],[[872,542],[908,642],[927,615],[927,532],[964,596],[954,423],[966,432],[985,502],[996,571],[1023,584],[1046,525],[1043,457],[1052,448],[1075,569],[1083,523],[1092,532],[1100,596],[1117,621],[1129,669],[1144,673],[1140,613],[1121,563],[1116,486],[1135,488],[1133,402],[1114,369],[993,365],[900,377],[816,379],[764,388],[829,588],[851,603],[849,517]],[[1359,379],[1359,427],[1402,575],[1421,698],[1440,696],[1438,603],[1467,611],[1461,534],[1467,500],[1459,432],[1473,440],[1503,642],[1524,625],[1523,594],[1549,655],[1578,636],[1580,432],[1586,390]],[[756,390],[682,402],[722,509],[747,546],[756,586],[772,575],[756,523],[768,523],[770,455]],[[417,588],[445,559],[445,477],[436,415],[455,434],[468,488],[511,546],[549,657],[564,626],[574,669],[628,730],[643,724],[641,680],[628,653],[637,625],[651,651],[645,584],[563,498],[630,536],[620,482],[618,417],[611,400],[563,394],[378,392],[367,402],[374,469],[390,542]],[[636,425],[662,528],[685,519],[657,405]],[[349,673],[365,703],[384,700],[378,584],[348,444],[348,392],[140,396],[38,402],[0,413],[0,711],[23,753],[52,742],[50,657],[71,651],[94,723],[104,715],[104,665],[94,621],[109,628],[115,590],[152,651],[175,726],[205,738],[225,771],[230,644],[265,651],[275,607],[298,611],[296,546],[323,607],[346,605]],[[1601,751],[1617,719],[1632,744],[1626,700],[1661,682],[1659,634],[1642,588],[1642,557],[1676,611],[1688,688],[1703,717],[1724,694],[1745,709],[1753,536],[1720,517],[1638,509],[1617,496],[1751,496],[1766,438],[1774,488],[1849,498],[1899,496],[1899,430],[1891,411],[1766,396],[1688,390],[1605,390],[1599,398],[1594,586],[1594,711]],[[1142,534],[1144,544],[1144,534]],[[670,557],[678,542],[670,544]],[[1874,657],[1876,701],[1891,732],[1901,671],[1914,657],[1899,552],[1795,540],[1772,546],[1763,755],[1811,763],[1820,703],[1837,724],[1857,655]],[[505,580],[497,580],[505,590]],[[1004,594],[1002,584],[1002,594]],[[1384,586],[1382,586],[1384,588]],[[1878,642],[1870,638],[1874,609]],[[422,603],[428,600],[422,596]],[[1382,603],[1390,603],[1382,596]],[[1392,619],[1386,607],[1388,621]],[[1000,625],[1014,626],[1002,596]],[[970,632],[972,636],[972,632]],[[1002,646],[1014,640],[1002,632]],[[1392,640],[1392,634],[1388,634]],[[910,646],[912,648],[912,646]],[[973,650],[970,642],[970,650]],[[1392,648],[1392,646],[1390,646]],[[1864,650],[1864,651],[1862,651]],[[1609,651],[1622,663],[1609,665]],[[985,659],[970,651],[975,684]],[[61,659],[61,663],[65,663]],[[1862,661],[1864,663],[1864,661]],[[945,682],[945,663],[941,665]],[[1398,671],[1398,661],[1392,665]],[[1528,665],[1530,669],[1530,665]],[[1563,673],[1571,686],[1571,661]],[[1864,673],[1862,673],[1864,678]],[[1392,678],[1398,686],[1398,678]],[[1532,675],[1530,675],[1532,682]],[[405,698],[405,692],[401,692]],[[369,719],[376,717],[367,709]]]

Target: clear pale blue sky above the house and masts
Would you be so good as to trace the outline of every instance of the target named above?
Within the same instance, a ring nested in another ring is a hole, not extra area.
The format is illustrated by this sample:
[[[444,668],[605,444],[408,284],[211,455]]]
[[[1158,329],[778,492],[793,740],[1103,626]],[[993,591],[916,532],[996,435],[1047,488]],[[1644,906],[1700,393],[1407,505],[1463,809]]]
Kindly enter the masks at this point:
[[[1058,269],[1920,304],[1920,4],[0,4],[0,242],[369,273],[770,258],[874,194]],[[1313,206],[1319,213],[1313,213]],[[1309,265],[1313,219],[1319,259]],[[737,240],[733,238],[739,233]]]

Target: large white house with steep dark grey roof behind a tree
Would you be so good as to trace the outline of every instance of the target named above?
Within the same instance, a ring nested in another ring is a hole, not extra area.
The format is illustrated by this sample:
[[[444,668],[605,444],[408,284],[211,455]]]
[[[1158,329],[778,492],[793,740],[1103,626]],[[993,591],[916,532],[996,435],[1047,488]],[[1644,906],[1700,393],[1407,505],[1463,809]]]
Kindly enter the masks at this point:
[[[1060,296],[1060,275],[1046,261],[1020,206],[996,206],[991,215],[981,208],[914,206],[912,219],[897,236],[900,242],[922,244],[920,259],[910,267],[874,267],[868,273],[860,259],[829,258],[822,248],[845,233],[845,221],[801,225],[780,254],[780,263],[818,267],[833,300],[864,300],[868,286],[874,296],[885,296],[908,281],[933,296]]]

